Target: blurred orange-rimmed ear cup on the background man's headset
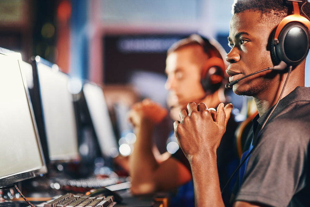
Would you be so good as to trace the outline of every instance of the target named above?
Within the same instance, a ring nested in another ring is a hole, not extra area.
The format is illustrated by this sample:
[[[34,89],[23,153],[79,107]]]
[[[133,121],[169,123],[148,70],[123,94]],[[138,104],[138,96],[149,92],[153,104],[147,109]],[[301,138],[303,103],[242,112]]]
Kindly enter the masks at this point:
[[[222,86],[225,73],[223,59],[211,57],[202,65],[201,86],[206,93],[214,93]]]

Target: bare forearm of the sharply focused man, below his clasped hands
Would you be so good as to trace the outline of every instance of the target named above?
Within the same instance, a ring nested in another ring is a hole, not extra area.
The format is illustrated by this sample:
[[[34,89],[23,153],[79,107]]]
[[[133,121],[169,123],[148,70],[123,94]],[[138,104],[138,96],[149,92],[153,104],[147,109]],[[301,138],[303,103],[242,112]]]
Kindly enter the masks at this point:
[[[216,152],[190,159],[196,206],[224,206],[219,187]]]

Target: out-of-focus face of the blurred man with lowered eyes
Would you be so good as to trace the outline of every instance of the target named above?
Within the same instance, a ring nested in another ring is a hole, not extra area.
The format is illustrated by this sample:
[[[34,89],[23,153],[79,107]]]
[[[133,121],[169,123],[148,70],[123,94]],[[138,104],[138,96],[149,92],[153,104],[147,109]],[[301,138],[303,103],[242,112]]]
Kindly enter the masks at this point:
[[[200,47],[201,53],[203,49]],[[197,49],[197,48],[196,48]],[[201,86],[202,63],[193,59],[193,46],[186,46],[170,53],[166,59],[166,74],[168,76],[165,87],[170,91],[169,105],[187,105],[205,96]],[[169,101],[169,100],[168,100]]]

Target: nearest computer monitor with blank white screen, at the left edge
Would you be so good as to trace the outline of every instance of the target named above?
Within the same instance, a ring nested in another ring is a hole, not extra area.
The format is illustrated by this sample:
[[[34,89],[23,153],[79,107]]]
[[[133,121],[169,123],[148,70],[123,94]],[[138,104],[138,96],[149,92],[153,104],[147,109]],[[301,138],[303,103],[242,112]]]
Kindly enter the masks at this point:
[[[0,187],[47,173],[19,63],[0,51]]]

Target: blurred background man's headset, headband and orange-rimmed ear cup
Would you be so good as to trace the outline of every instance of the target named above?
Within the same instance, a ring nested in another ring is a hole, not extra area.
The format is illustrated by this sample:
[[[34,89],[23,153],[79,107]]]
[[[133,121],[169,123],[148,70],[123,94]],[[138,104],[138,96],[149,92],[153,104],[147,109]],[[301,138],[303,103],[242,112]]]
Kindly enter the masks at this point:
[[[204,52],[209,55],[209,59],[202,65],[200,82],[206,94],[212,94],[223,85],[226,69],[224,60],[216,56],[215,51],[218,49],[207,38],[198,34],[192,34],[188,38],[201,45]]]

